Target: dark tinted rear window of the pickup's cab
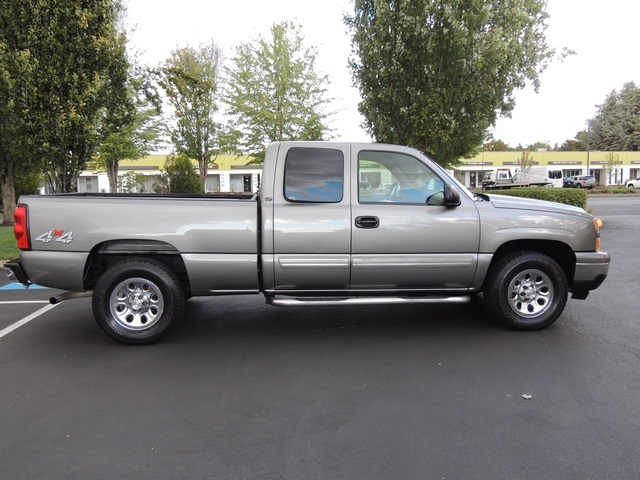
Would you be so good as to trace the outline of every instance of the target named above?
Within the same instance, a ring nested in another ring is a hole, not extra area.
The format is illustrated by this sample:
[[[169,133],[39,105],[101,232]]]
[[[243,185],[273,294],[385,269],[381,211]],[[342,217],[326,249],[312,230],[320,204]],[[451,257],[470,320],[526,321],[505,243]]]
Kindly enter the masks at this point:
[[[287,152],[284,196],[290,202],[340,203],[344,156],[329,148],[292,148]]]

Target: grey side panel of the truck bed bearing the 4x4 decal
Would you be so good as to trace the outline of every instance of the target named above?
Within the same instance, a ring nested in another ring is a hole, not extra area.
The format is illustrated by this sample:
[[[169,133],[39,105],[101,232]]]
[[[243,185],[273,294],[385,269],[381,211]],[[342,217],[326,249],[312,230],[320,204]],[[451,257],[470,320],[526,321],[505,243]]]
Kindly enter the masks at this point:
[[[258,289],[256,201],[74,195],[31,196],[21,201],[29,205],[33,249],[22,252],[21,263],[34,281],[37,271],[53,272],[38,274],[42,285],[81,290],[77,282],[82,270],[79,276],[74,273],[73,285],[63,282],[66,275],[58,274],[67,268],[67,257],[73,257],[76,265],[104,245],[153,241],[182,255],[192,292],[198,295],[211,294],[218,287]],[[196,266],[200,260],[203,265]]]

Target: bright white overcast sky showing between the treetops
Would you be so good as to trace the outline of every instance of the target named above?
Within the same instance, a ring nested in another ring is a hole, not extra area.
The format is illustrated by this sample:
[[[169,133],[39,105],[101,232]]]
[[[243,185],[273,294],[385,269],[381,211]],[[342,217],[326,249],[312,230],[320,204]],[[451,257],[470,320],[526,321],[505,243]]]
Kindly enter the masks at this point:
[[[172,49],[197,47],[214,40],[226,57],[241,42],[267,36],[275,22],[301,25],[305,44],[317,49],[317,69],[329,76],[332,126],[337,139],[370,141],[361,128],[359,92],[347,66],[351,42],[342,18],[350,0],[125,0],[131,45],[150,66]],[[573,139],[597,106],[627,82],[640,84],[637,19],[640,2],[633,0],[548,0],[548,44],[576,52],[554,62],[531,86],[516,93],[510,118],[500,118],[493,138],[512,147],[547,142],[552,147]]]

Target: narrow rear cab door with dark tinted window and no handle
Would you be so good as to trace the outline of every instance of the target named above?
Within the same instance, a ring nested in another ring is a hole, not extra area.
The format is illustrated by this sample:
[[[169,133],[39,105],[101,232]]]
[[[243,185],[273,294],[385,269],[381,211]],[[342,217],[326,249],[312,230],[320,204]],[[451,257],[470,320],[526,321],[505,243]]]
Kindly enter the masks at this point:
[[[283,144],[278,153],[275,185],[283,187],[273,195],[274,285],[281,292],[347,290],[349,146],[307,145]]]

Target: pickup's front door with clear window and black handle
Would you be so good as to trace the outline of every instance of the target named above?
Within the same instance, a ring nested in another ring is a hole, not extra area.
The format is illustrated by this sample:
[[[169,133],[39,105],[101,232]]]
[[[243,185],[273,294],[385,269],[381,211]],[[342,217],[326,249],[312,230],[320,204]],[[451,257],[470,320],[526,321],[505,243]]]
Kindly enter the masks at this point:
[[[444,181],[424,158],[365,148],[352,152],[352,174],[378,172],[381,187],[352,194],[351,290],[466,291],[480,238],[474,202],[461,195],[461,205],[444,206]]]

